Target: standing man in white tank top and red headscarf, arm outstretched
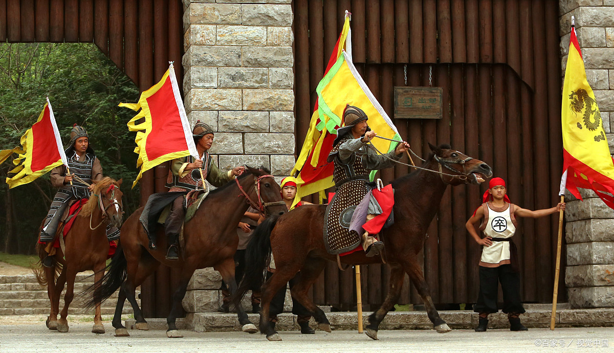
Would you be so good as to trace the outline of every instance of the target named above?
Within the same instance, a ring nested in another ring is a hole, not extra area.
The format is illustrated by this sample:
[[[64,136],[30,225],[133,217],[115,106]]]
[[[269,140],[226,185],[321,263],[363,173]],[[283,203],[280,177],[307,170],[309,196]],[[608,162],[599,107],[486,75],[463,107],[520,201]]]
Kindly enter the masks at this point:
[[[505,181],[499,177],[490,180],[489,189],[484,193],[484,203],[476,209],[465,227],[475,241],[482,246],[480,258],[480,292],[473,311],[480,313],[480,323],[476,332],[486,331],[488,314],[497,309],[498,282],[503,290],[503,312],[508,314],[511,331],[526,331],[521,324],[519,314],[523,314],[520,300],[520,273],[516,246],[511,237],[516,232],[516,217],[539,218],[558,213],[565,209],[565,203],[553,208],[530,211],[519,208],[507,197]],[[475,230],[476,226],[484,238]]]

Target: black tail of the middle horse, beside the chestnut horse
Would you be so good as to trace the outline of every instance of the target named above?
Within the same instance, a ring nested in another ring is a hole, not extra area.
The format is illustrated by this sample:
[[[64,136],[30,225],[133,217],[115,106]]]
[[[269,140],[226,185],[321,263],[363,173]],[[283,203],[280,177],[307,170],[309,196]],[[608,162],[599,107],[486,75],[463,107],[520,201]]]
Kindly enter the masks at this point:
[[[126,262],[126,256],[123,254],[122,243],[120,242],[115,250],[115,255],[111,258],[111,263],[104,268],[103,278],[90,287],[79,292],[79,298],[84,298],[83,306],[85,310],[93,309],[96,303],[102,303],[107,300],[123,282],[126,281],[128,276],[128,263]],[[99,285],[98,288],[96,286]],[[93,295],[91,295],[93,293]],[[90,296],[87,298],[86,296]]]

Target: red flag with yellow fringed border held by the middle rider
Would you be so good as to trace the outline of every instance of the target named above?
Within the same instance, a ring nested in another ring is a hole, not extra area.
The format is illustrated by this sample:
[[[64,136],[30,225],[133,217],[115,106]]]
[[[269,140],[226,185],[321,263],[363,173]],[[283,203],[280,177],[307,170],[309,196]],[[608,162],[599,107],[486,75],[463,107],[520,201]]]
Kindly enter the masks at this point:
[[[187,155],[198,158],[173,63],[160,82],[141,93],[138,103],[120,103],[119,106],[133,111],[141,109],[128,122],[130,131],[137,131],[134,153],[139,155],[136,166],[141,168],[132,187],[144,171],[165,161]],[[144,121],[137,123],[141,118]]]

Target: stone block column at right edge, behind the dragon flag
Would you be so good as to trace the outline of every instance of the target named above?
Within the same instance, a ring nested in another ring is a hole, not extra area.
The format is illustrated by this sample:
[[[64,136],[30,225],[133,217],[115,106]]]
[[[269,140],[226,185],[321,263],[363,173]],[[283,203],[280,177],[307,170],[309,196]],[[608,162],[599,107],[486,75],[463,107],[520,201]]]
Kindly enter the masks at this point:
[[[562,74],[565,74],[571,17],[593,88],[610,153],[614,153],[614,0],[561,0]],[[567,285],[572,308],[614,306],[614,211],[592,190],[584,201],[565,195],[567,210]]]

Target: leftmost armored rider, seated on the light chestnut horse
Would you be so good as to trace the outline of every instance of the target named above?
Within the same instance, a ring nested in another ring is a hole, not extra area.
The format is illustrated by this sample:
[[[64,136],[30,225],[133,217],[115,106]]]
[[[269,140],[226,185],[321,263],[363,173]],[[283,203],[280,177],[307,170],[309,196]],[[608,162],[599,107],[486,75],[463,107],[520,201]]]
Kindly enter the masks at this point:
[[[56,166],[51,170],[50,174],[51,185],[59,189],[55,196],[53,196],[53,202],[47,217],[45,217],[40,235],[40,242],[47,243],[45,250],[49,255],[42,261],[42,264],[47,267],[53,266],[55,249],[52,244],[64,211],[74,201],[90,197],[91,190],[94,188],[91,180],[103,179],[103,167],[91,148],[89,135],[85,128],[74,124],[71,130],[71,140],[68,142],[68,145],[69,147],[64,153],[66,153],[66,158],[68,158],[71,174],[66,173],[66,166],[64,165]],[[82,182],[77,181],[76,177],[91,185],[88,187]],[[111,225],[107,227],[107,238],[110,241],[118,239],[119,234],[117,227],[112,227]]]

